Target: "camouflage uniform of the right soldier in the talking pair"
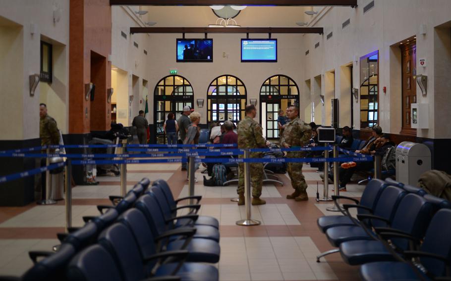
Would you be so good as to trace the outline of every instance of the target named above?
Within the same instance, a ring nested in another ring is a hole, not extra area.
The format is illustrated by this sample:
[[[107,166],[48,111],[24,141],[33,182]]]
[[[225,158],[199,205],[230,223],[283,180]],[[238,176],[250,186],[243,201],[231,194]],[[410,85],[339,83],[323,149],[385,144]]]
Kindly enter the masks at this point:
[[[285,130],[281,138],[281,145],[289,144],[291,147],[302,147],[308,143],[312,137],[312,128],[301,121],[299,118],[295,118],[285,124]],[[288,152],[287,158],[302,158],[304,152]],[[305,182],[304,175],[302,175],[302,163],[287,163],[288,176],[291,179],[291,186],[294,190],[305,192],[307,189],[307,183]]]

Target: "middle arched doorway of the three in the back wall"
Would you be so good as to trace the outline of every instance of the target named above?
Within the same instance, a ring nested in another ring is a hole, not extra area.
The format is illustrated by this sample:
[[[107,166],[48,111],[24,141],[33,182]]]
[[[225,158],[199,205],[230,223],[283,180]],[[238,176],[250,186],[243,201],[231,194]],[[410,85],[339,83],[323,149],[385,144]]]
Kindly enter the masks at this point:
[[[236,125],[244,118],[246,99],[246,87],[239,78],[232,75],[215,78],[207,91],[208,123],[229,120]]]

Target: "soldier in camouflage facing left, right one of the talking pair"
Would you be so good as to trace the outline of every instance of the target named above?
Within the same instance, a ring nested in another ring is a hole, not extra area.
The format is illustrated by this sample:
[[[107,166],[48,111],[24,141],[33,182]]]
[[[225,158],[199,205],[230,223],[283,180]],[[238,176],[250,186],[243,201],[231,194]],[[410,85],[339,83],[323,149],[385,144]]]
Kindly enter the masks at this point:
[[[312,136],[312,128],[304,121],[301,121],[298,117],[299,108],[297,106],[290,106],[287,110],[287,117],[290,119],[285,125],[283,131],[281,145],[285,148],[290,147],[302,147],[308,143]],[[302,158],[304,152],[288,152],[286,154],[288,158]],[[302,163],[288,163],[287,165],[288,176],[291,179],[291,186],[294,188],[294,192],[286,195],[287,199],[295,199],[296,201],[308,200],[307,183],[305,182],[304,175],[302,175]]]

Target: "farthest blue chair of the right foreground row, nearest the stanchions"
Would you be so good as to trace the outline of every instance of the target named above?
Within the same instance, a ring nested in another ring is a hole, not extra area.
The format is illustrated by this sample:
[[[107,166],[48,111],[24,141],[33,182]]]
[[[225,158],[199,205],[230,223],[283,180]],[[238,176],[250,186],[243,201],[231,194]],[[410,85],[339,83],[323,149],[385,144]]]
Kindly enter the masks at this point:
[[[360,202],[357,199],[346,197],[346,196],[333,196],[334,201],[338,199],[347,199],[355,202],[355,205],[351,207],[348,205],[348,209],[357,208],[358,214],[372,214],[373,210],[376,207],[376,204],[381,196],[382,191],[388,185],[384,183],[384,181],[375,179],[371,180],[368,185],[363,190],[362,197],[360,198]],[[347,216],[345,213],[344,216],[323,216],[318,218],[317,221],[318,227],[322,233],[325,233],[331,227],[337,226],[352,226],[355,225],[354,221]]]

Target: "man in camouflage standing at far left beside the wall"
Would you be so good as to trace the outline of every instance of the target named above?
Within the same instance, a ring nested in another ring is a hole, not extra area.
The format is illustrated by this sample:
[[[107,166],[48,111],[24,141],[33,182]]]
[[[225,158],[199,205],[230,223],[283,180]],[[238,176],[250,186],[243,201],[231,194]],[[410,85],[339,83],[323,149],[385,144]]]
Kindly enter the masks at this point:
[[[58,145],[59,144],[59,130],[55,119],[47,114],[47,105],[45,103],[39,104],[39,138],[41,138],[41,146],[44,145]],[[52,152],[54,149],[51,150]],[[44,152],[45,153],[45,152]],[[41,159],[41,167],[47,166],[47,159]],[[41,176],[41,196],[42,200],[46,199],[46,172]]]

